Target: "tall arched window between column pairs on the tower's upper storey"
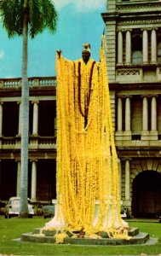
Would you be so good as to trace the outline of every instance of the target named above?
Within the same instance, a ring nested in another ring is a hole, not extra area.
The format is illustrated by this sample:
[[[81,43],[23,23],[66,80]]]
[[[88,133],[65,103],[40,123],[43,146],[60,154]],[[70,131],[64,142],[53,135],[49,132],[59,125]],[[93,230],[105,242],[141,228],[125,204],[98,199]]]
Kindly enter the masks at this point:
[[[132,63],[142,64],[142,38],[138,34],[132,38]]]

